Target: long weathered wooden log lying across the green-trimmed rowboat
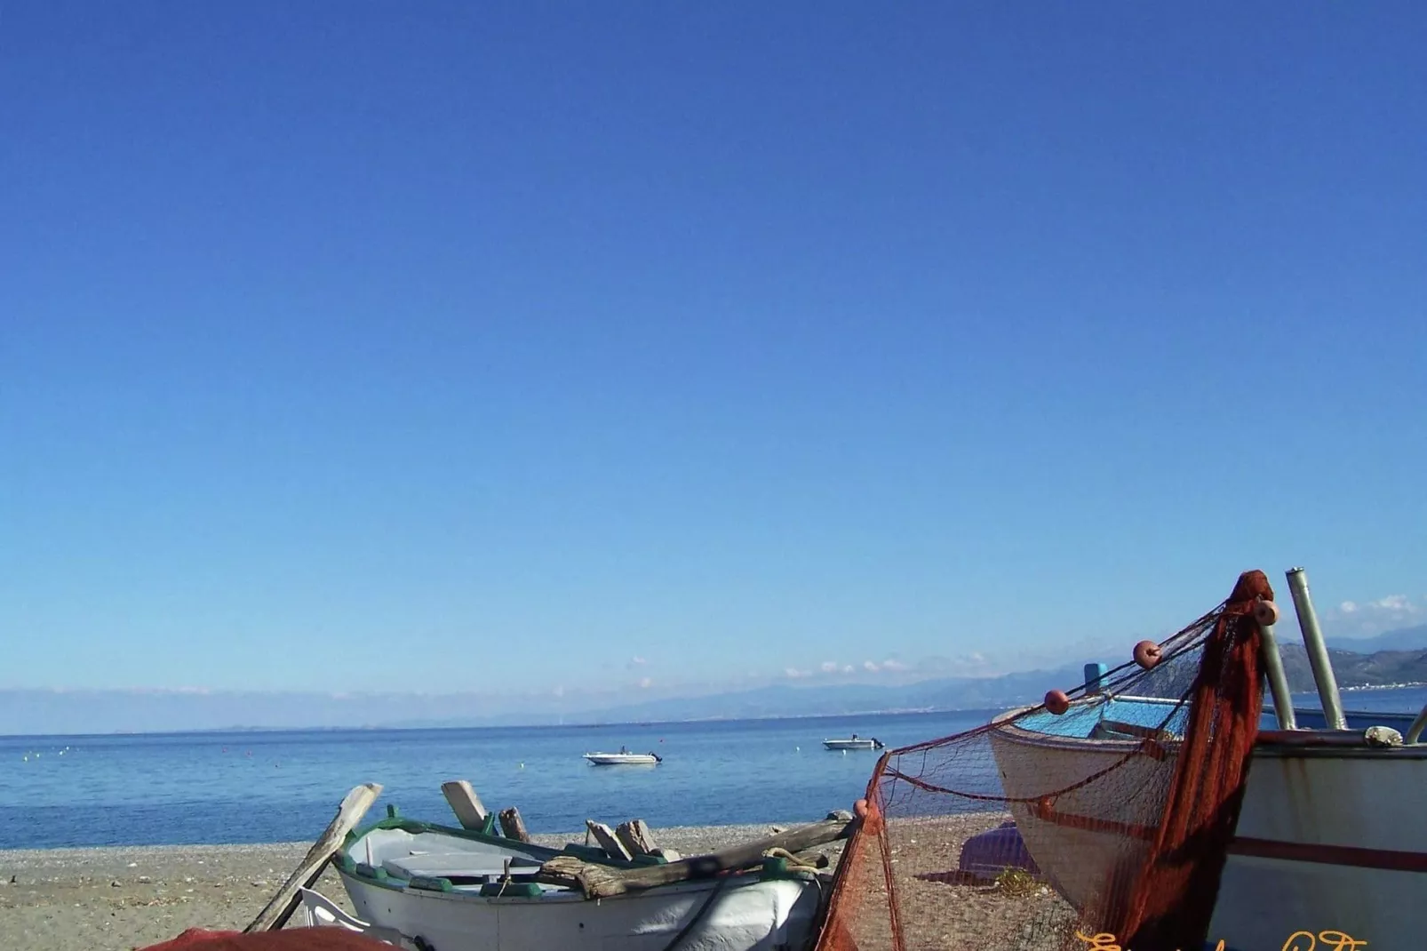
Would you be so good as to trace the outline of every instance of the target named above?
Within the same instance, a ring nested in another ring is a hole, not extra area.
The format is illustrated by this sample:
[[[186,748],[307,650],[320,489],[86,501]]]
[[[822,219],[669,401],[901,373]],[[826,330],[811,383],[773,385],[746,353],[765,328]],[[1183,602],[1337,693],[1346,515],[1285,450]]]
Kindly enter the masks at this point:
[[[541,865],[535,880],[549,885],[579,888],[585,898],[612,898],[629,891],[714,878],[728,871],[749,868],[759,864],[763,860],[763,852],[772,848],[801,852],[826,845],[850,835],[852,825],[850,821],[825,820],[752,842],[731,845],[708,855],[694,855],[666,865],[646,865],[644,868],[611,868],[585,862],[574,855],[557,855]]]

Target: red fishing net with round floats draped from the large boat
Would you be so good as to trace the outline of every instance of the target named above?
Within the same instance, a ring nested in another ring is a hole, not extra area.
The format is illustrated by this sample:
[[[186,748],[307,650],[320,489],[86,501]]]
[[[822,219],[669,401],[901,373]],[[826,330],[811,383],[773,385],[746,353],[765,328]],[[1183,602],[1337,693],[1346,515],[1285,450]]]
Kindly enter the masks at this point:
[[[1046,703],[888,751],[818,951],[1203,947],[1263,685],[1260,571]]]

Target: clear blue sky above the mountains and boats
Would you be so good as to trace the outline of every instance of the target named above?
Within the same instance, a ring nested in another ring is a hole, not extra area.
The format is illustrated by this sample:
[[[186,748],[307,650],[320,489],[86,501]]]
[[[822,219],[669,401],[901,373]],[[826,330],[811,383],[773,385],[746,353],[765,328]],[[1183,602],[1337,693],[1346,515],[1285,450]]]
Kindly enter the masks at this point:
[[[1294,564],[1420,623],[1424,44],[6,4],[0,687],[999,670]]]

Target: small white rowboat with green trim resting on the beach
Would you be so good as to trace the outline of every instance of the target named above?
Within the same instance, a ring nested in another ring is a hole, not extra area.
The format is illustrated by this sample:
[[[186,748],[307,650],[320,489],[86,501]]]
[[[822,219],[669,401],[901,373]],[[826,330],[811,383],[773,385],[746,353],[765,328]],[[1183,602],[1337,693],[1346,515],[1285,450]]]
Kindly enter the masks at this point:
[[[541,865],[557,857],[574,855],[612,872],[646,864],[595,852],[388,818],[348,835],[334,860],[355,911],[341,922],[388,941],[395,937],[400,947],[418,951],[664,951],[675,945],[679,951],[776,951],[805,948],[815,937],[825,884],[812,875],[729,874],[599,900],[541,881]],[[327,917],[334,915],[328,911]]]

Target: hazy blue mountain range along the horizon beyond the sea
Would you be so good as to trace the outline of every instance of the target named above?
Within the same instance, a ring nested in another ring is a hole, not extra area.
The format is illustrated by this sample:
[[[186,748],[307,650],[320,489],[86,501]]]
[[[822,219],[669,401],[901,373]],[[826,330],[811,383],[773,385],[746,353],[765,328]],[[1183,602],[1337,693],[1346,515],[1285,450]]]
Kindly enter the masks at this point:
[[[1329,645],[1340,687],[1427,683],[1427,625],[1373,638],[1329,638]],[[1313,674],[1303,645],[1283,643],[1280,651],[1290,688],[1311,691]],[[478,694],[0,690],[0,734],[574,725],[990,710],[1039,703],[1046,690],[1079,684],[1082,671],[1082,664],[1067,664],[1002,677],[946,677],[900,685],[789,683],[564,713],[549,704],[517,705],[512,713],[498,700]]]

